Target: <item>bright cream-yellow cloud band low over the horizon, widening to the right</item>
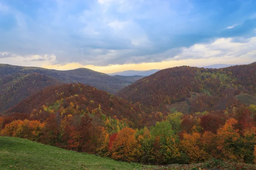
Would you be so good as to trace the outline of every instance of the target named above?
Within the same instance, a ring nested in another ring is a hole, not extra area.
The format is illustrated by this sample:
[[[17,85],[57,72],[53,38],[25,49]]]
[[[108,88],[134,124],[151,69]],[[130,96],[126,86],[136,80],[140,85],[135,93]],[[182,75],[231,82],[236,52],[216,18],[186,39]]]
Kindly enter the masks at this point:
[[[181,50],[165,51],[161,54],[145,56],[151,58],[150,62],[138,62],[137,64],[116,64],[108,66],[83,65],[79,62],[70,62],[64,65],[43,65],[44,68],[69,70],[75,68],[90,68],[104,73],[113,73],[125,70],[164,69],[180,65],[205,66],[213,63],[242,64],[251,63],[256,59],[256,37],[247,41],[236,42],[233,38],[219,38],[210,43],[192,45]],[[175,55],[174,55],[175,54]],[[166,59],[163,59],[163,58]],[[157,62],[154,59],[160,58]],[[214,61],[214,62],[212,62]]]

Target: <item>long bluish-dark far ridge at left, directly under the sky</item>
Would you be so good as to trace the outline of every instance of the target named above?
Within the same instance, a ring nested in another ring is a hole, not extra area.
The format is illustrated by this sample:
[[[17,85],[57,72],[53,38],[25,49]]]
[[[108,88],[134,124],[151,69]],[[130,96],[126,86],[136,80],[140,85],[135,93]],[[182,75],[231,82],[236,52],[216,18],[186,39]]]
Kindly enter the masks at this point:
[[[31,74],[39,73],[46,76],[53,77],[59,81],[66,83],[83,83],[92,85],[104,91],[108,91],[112,94],[116,93],[119,89],[129,84],[124,79],[118,79],[116,77],[109,76],[97,71],[93,71],[87,68],[78,68],[68,71],[58,71],[37,67],[22,67],[14,65],[0,64],[0,78],[9,76],[12,74]]]

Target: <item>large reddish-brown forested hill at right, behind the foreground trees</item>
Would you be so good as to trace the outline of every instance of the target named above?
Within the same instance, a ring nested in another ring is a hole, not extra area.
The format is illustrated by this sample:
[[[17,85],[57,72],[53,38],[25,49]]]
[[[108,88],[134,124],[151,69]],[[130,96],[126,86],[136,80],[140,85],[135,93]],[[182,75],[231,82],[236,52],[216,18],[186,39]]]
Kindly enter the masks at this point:
[[[149,111],[186,101],[189,112],[195,113],[232,108],[240,92],[256,96],[255,87],[256,63],[220,69],[182,66],[144,77],[116,95],[140,102]]]

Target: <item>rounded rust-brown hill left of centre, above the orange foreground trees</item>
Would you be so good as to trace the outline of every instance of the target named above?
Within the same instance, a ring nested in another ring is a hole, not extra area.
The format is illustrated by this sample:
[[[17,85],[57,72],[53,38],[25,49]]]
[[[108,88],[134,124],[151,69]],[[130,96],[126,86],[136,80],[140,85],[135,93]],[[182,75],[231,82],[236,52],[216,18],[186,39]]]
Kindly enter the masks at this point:
[[[90,85],[73,83],[48,86],[6,110],[8,113],[32,114],[31,118],[38,120],[47,119],[51,113],[61,117],[94,115],[99,119],[105,115],[104,121],[109,116],[109,119],[124,119],[126,125],[136,127],[143,116],[139,108],[124,99]]]

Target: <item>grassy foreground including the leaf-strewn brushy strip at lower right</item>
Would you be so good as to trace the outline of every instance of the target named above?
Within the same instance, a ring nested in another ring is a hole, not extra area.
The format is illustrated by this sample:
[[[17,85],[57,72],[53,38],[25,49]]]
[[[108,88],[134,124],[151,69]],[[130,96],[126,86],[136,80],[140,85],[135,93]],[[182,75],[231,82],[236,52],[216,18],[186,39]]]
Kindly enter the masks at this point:
[[[77,153],[27,139],[0,136],[0,170],[256,170],[255,165],[211,160],[150,166]]]

